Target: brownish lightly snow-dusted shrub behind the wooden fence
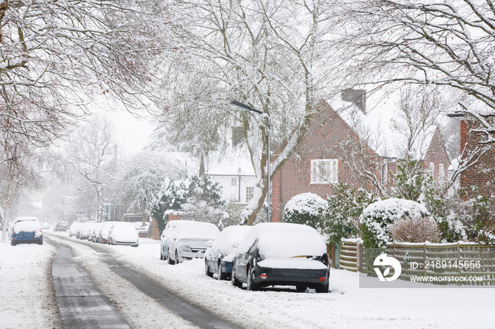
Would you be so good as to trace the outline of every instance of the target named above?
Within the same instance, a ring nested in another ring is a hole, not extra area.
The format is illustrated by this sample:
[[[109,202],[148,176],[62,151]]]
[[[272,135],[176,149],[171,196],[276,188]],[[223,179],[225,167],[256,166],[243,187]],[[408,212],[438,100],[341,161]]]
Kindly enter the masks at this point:
[[[439,242],[440,230],[431,217],[402,217],[390,225],[390,236],[397,242]]]

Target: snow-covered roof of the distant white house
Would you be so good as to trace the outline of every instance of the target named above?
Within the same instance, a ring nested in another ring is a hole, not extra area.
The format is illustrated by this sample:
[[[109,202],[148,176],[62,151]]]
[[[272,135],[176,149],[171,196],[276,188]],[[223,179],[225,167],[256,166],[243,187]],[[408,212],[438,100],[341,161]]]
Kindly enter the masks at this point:
[[[245,148],[228,148],[214,152],[205,160],[205,172],[221,176],[255,176],[250,155]]]

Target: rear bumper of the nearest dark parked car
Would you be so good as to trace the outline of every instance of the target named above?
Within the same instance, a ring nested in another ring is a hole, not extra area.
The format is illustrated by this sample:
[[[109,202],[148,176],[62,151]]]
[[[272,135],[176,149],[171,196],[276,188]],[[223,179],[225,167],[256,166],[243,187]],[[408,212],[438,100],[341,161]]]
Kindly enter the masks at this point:
[[[254,282],[262,285],[306,285],[317,287],[330,280],[330,270],[265,268],[255,265]]]

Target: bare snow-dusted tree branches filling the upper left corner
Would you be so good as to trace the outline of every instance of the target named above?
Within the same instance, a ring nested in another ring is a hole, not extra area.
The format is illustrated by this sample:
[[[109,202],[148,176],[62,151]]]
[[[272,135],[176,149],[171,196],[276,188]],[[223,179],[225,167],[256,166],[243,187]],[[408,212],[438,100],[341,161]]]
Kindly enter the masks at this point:
[[[98,97],[128,109],[153,97],[173,44],[168,1],[0,2],[0,126],[49,143]]]

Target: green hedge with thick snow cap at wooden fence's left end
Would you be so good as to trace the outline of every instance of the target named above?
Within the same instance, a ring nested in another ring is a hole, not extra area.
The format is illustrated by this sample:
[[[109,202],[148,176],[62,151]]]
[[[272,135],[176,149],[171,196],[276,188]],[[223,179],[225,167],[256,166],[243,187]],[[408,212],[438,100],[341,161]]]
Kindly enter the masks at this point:
[[[385,246],[390,239],[390,225],[400,218],[429,217],[424,205],[415,201],[389,198],[371,203],[363,210],[359,222],[363,245],[366,248]]]

